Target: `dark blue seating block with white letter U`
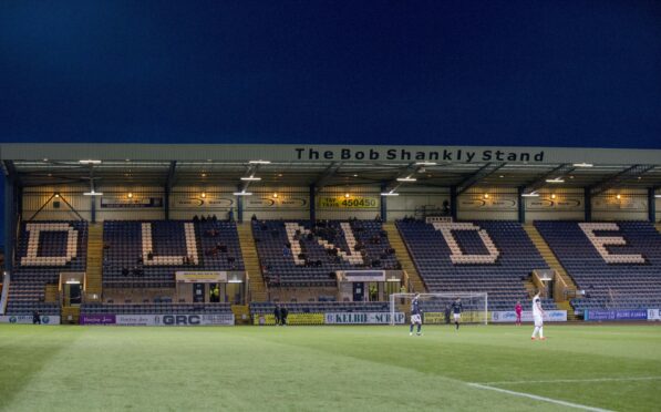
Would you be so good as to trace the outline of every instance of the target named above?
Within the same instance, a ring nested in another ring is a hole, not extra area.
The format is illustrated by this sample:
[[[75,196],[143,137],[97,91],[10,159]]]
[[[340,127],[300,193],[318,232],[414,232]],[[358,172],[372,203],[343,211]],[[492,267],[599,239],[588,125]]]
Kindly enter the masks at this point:
[[[244,270],[234,222],[106,220],[103,241],[106,288],[174,287],[177,270]]]

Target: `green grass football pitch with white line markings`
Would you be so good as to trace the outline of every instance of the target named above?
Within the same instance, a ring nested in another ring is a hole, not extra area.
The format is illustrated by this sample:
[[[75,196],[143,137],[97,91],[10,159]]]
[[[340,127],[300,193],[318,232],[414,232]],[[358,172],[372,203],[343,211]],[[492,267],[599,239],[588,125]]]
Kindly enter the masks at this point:
[[[658,411],[661,327],[0,326],[8,411]]]

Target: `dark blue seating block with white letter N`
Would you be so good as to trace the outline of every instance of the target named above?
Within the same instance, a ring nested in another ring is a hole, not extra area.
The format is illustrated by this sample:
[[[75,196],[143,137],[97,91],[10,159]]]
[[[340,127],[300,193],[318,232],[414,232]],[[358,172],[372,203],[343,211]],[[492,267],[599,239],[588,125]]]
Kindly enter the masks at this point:
[[[270,286],[334,286],[337,270],[399,267],[379,222],[254,220],[252,233]]]

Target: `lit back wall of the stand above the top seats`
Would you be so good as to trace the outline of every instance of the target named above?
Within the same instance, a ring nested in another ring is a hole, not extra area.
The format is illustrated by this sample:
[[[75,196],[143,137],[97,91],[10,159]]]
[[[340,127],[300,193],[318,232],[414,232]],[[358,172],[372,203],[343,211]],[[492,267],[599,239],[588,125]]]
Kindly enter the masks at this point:
[[[92,217],[92,202],[95,204],[96,220],[107,219],[163,219],[165,218],[165,193],[162,187],[140,185],[99,186],[102,197],[83,196],[89,190],[84,184],[69,186],[43,186],[25,188],[23,192],[23,218],[30,218],[41,206],[35,217],[40,220],[69,220],[78,216],[66,206],[69,202],[84,218]],[[238,196],[229,186],[173,187],[169,197],[169,216],[173,219],[190,219],[195,215],[216,215],[224,219],[228,212],[237,217]],[[308,219],[310,216],[310,192],[308,187],[250,186],[252,196],[244,196],[244,219],[252,215],[259,219]],[[60,198],[47,200],[55,193]],[[317,218],[320,219],[373,219],[381,213],[381,203],[386,204],[389,220],[404,216],[423,216],[423,210],[440,212],[443,202],[450,202],[448,188],[404,186],[397,189],[400,196],[382,197],[376,185],[326,187],[316,196]],[[130,197],[131,194],[131,197]],[[347,197],[345,195],[349,195]],[[617,198],[617,195],[620,198]],[[582,220],[585,199],[582,189],[539,190],[539,197],[524,198],[526,222],[533,220]],[[610,190],[592,199],[593,220],[647,220],[648,204],[645,189]],[[661,198],[655,199],[657,222],[661,220]],[[517,220],[518,199],[515,188],[475,187],[457,199],[457,216],[461,220]]]

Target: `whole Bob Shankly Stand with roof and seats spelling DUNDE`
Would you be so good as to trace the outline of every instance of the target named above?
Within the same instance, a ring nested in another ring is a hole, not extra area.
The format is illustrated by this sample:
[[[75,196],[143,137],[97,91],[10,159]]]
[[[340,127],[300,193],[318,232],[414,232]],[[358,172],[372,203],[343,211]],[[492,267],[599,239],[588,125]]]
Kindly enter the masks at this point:
[[[661,151],[344,146],[0,144],[0,321],[661,307]]]

